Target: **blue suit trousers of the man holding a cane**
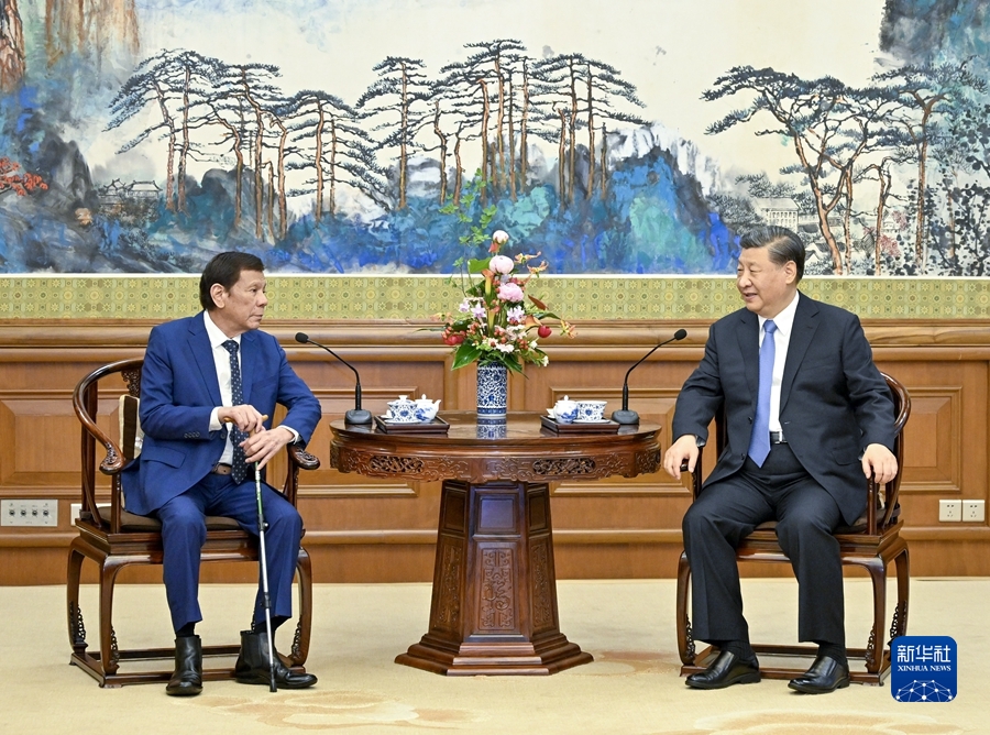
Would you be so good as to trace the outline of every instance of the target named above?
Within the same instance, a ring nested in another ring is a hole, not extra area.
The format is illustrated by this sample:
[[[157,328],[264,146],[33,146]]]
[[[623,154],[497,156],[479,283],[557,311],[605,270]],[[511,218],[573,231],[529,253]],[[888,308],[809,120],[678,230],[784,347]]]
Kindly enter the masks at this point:
[[[273,619],[293,616],[293,577],[302,538],[302,518],[284,495],[262,484],[265,512],[265,556]],[[178,630],[202,619],[199,608],[200,550],[206,541],[206,516],[227,516],[257,536],[257,503],[254,480],[235,485],[230,475],[208,474],[156,512],[162,522],[163,578],[172,625]],[[265,619],[264,594],[258,566],[258,590],[254,621]]]

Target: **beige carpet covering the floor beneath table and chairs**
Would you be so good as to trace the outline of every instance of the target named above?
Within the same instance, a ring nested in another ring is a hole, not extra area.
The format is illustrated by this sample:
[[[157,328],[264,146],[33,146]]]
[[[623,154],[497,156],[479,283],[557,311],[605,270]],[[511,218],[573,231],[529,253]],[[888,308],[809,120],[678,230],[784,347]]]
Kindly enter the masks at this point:
[[[754,638],[777,630],[778,639],[792,639],[794,582],[744,584]],[[678,676],[672,580],[563,581],[558,589],[561,629],[594,663],[552,677],[451,679],[398,666],[395,656],[426,630],[429,585],[322,584],[315,591],[308,662],[320,678],[314,689],[273,694],[208,682],[200,696],[184,700],[166,696],[158,684],[100,689],[68,665],[64,589],[0,588],[11,634],[0,669],[0,733],[990,733],[990,580],[912,580],[909,632],[959,643],[958,698],[944,704],[899,703],[887,685],[854,684],[821,696],[792,693],[782,681],[690,690]],[[86,595],[92,638],[96,589]],[[204,639],[235,636],[251,596],[248,586],[206,586]],[[848,581],[847,596],[854,637],[867,628],[868,583]],[[162,589],[121,586],[116,628],[121,645],[166,645]],[[282,636],[278,646],[287,648],[288,635]]]

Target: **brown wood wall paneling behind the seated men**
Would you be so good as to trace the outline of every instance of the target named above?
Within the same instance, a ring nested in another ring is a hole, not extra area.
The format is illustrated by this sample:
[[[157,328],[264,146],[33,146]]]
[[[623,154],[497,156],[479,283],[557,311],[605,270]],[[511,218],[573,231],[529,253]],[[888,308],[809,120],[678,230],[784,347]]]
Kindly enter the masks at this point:
[[[384,413],[399,394],[442,398],[441,412],[471,408],[474,370],[451,371],[449,349],[426,322],[271,322],[293,365],[323,407],[309,449],[322,467],[305,473],[299,508],[304,544],[317,581],[431,579],[439,483],[403,483],[330,468],[329,423],[353,406],[353,373],[322,350],[299,345],[307,331],[353,362],[364,407]],[[0,322],[0,497],[56,498],[56,528],[0,528],[0,584],[63,583],[73,537],[69,504],[78,502],[79,427],[70,396],[90,370],[140,355],[152,327],[140,320]],[[587,322],[573,341],[546,342],[550,365],[510,379],[510,409],[543,410],[563,395],[604,398],[618,408],[629,365],[678,328],[685,340],[662,348],[629,379],[630,407],[658,423],[670,441],[681,384],[703,354],[708,322]],[[990,526],[941,524],[942,498],[988,500],[990,327],[979,320],[865,321],[880,368],[911,391],[902,508],[912,573],[990,574]],[[117,396],[101,394],[99,420],[116,436]],[[277,418],[277,417],[276,417]],[[100,459],[102,457],[100,456]],[[284,470],[276,460],[273,476]],[[706,470],[714,463],[710,452]],[[106,481],[103,481],[106,487]],[[680,523],[690,493],[666,473],[551,485],[558,575],[671,577],[681,550]],[[250,564],[219,564],[205,581],[251,581]],[[766,566],[744,573],[770,573]],[[91,573],[91,572],[87,572]],[[789,573],[783,570],[782,573]],[[161,571],[125,571],[123,581],[156,582]],[[92,580],[90,580],[92,581]]]

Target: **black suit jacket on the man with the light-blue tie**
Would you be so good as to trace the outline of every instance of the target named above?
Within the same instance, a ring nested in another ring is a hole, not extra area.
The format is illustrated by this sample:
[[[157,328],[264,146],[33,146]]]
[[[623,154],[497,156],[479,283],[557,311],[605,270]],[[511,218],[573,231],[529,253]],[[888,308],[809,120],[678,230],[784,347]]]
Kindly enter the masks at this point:
[[[674,439],[707,440],[724,405],[727,443],[705,484],[746,460],[759,390],[759,319],[747,310],[712,325],[705,356],[684,383]],[[867,445],[893,448],[893,402],[856,315],[799,296],[780,395],[780,421],[794,456],[838,504],[846,523],[866,508],[860,458]]]

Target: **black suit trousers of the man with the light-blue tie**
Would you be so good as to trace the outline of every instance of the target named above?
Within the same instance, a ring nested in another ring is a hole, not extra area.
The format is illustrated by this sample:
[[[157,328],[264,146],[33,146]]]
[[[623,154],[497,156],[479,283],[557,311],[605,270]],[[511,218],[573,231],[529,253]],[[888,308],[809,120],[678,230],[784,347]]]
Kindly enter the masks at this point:
[[[736,548],[773,519],[798,578],[799,640],[845,646],[843,567],[833,536],[842,513],[785,443],[771,446],[762,468],[747,458],[737,473],[706,485],[684,515],[694,637],[749,640]]]

